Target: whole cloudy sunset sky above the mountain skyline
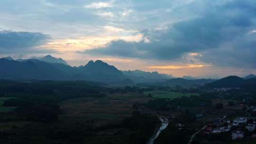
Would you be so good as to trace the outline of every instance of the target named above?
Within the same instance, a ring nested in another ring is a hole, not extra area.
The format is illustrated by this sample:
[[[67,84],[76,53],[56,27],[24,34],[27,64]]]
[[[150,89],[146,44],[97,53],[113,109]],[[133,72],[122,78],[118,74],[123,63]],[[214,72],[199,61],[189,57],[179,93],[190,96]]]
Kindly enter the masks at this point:
[[[256,0],[0,0],[0,57],[177,77],[256,74]]]

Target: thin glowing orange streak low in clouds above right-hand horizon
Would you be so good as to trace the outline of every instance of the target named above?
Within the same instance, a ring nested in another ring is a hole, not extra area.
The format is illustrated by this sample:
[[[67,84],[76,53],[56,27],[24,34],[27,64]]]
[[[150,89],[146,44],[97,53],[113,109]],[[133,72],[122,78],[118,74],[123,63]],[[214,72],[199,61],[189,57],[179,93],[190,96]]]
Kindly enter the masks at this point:
[[[203,64],[189,64],[189,65],[164,65],[164,66],[149,66],[149,69],[187,69],[187,68],[201,68],[210,65]]]

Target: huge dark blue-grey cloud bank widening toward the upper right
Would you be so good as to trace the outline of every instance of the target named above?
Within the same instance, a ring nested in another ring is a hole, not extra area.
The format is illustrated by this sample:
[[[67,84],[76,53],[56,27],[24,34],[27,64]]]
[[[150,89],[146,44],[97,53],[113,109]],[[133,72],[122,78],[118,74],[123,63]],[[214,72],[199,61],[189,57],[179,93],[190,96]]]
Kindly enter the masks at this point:
[[[163,30],[144,30],[144,40],[110,42],[83,53],[173,60],[186,53],[203,53],[199,60],[216,65],[252,67],[256,55],[256,1],[205,4],[203,15],[176,22]],[[146,42],[148,39],[150,42]],[[227,55],[229,59],[227,59]]]

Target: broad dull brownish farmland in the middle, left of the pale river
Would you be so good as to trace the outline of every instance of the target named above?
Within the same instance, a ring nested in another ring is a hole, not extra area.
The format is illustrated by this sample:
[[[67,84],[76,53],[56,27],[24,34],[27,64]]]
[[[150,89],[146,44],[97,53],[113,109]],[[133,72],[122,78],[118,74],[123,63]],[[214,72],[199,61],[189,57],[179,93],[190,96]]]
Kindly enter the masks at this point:
[[[146,103],[148,100],[149,98],[145,98],[145,96],[121,93],[110,95],[107,98],[68,99],[60,103],[64,114],[61,114],[59,118],[77,121],[91,119],[97,125],[117,122],[132,114],[134,104]]]

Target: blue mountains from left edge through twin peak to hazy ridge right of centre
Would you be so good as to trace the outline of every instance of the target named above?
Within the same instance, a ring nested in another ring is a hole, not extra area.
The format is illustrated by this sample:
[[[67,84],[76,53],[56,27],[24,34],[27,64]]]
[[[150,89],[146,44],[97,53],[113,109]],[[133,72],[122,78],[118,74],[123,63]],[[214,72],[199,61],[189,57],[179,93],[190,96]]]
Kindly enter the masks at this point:
[[[119,71],[116,67],[100,60],[90,61],[86,65],[72,67],[63,59],[51,55],[32,59],[5,57],[0,59],[0,79],[12,80],[59,80],[59,81],[100,81],[105,83],[132,84],[140,82],[166,81],[172,75],[158,72]]]

